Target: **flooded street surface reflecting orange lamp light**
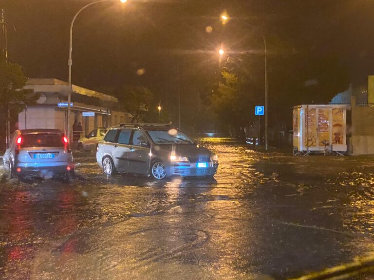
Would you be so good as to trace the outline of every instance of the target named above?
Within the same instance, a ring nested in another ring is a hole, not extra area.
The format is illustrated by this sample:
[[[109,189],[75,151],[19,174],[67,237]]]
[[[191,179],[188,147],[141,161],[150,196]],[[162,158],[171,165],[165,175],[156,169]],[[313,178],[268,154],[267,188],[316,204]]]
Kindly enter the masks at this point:
[[[202,139],[215,179],[0,182],[0,279],[282,279],[374,251],[374,157]],[[360,279],[372,279],[371,276]]]

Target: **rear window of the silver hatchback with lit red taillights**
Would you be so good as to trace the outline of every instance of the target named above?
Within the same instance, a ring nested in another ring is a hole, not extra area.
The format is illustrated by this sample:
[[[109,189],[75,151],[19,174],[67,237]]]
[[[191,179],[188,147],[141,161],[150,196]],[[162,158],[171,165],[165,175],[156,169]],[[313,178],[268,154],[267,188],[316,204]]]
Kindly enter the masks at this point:
[[[63,147],[61,134],[38,133],[22,134],[22,147]]]

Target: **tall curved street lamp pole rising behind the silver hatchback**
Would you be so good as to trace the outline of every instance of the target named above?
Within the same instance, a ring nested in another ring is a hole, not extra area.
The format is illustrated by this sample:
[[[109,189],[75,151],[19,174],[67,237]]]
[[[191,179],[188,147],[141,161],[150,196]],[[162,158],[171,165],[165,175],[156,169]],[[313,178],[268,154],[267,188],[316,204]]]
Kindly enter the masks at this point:
[[[71,99],[72,99],[72,92],[73,92],[73,85],[72,85],[72,65],[73,65],[73,59],[72,59],[72,53],[73,53],[73,26],[74,26],[74,22],[75,22],[75,19],[76,17],[78,17],[78,15],[86,8],[92,6],[93,4],[97,4],[97,3],[101,3],[101,2],[108,2],[108,1],[118,1],[118,0],[96,0],[92,3],[89,3],[87,5],[85,5],[84,7],[82,7],[74,16],[73,20],[72,20],[72,23],[70,24],[70,41],[69,41],[69,61],[68,61],[68,65],[69,65],[69,92],[68,92],[68,120],[67,120],[67,137],[68,139],[70,140],[70,103],[71,103]],[[128,0],[119,0],[121,3],[126,3]]]

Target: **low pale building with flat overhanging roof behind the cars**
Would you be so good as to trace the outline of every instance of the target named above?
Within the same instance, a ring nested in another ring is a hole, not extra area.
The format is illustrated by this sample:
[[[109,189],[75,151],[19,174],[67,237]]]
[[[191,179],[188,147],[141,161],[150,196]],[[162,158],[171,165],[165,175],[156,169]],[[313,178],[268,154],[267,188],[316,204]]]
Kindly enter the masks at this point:
[[[115,97],[73,85],[73,106],[70,120],[67,122],[66,105],[70,91],[67,82],[57,79],[29,79],[24,88],[33,90],[34,93],[40,94],[40,97],[37,105],[28,106],[19,113],[19,129],[52,128],[66,131],[70,125],[73,131],[74,123],[81,123],[82,134],[88,134],[94,128],[129,123],[131,120],[131,114],[118,108],[118,100]]]

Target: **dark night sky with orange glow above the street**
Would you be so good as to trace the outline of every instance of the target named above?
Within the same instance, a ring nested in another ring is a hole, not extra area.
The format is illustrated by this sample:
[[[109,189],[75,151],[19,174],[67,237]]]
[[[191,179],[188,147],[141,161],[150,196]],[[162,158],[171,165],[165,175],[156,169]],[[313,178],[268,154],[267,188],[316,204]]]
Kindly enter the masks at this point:
[[[92,0],[1,2],[9,60],[29,77],[67,80],[70,22]],[[232,19],[223,27],[224,9]],[[261,34],[269,39],[270,67],[277,53],[298,55],[309,75],[302,78],[313,79],[313,61],[334,56],[355,84],[374,73],[372,0],[118,0],[95,4],[77,18],[73,82],[98,90],[142,84],[162,96],[175,89],[177,64],[187,76],[214,71],[221,42],[234,57],[249,51],[243,55],[261,58]],[[146,70],[142,76],[136,74],[140,68]]]

